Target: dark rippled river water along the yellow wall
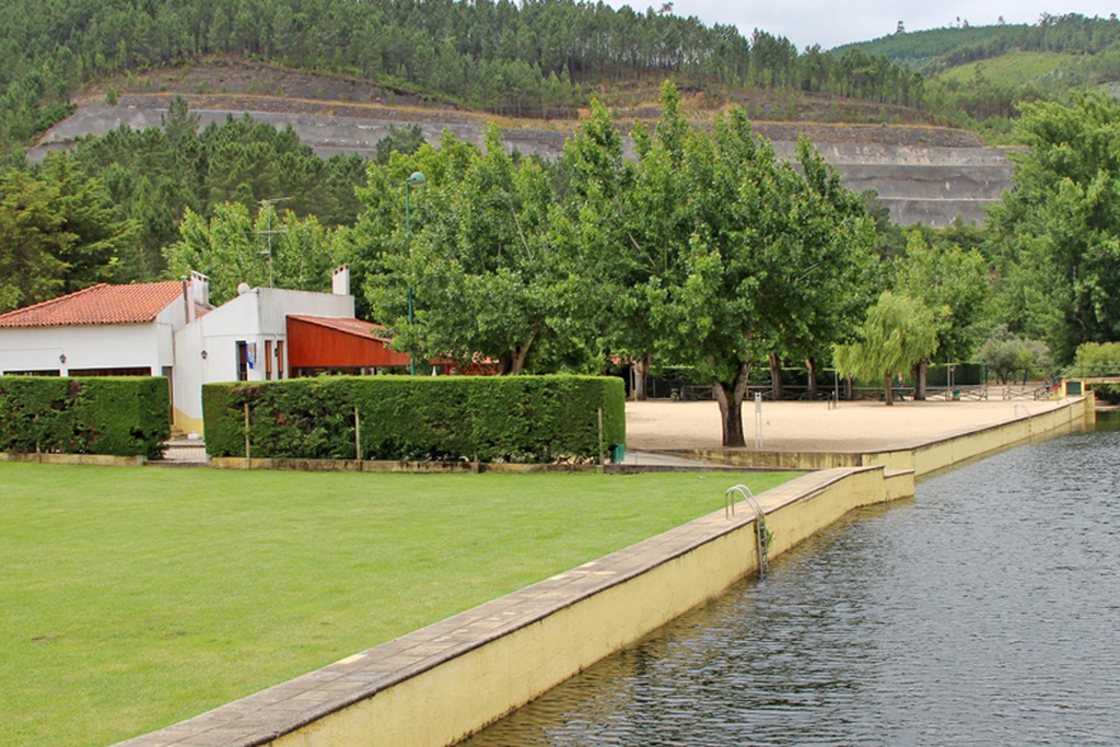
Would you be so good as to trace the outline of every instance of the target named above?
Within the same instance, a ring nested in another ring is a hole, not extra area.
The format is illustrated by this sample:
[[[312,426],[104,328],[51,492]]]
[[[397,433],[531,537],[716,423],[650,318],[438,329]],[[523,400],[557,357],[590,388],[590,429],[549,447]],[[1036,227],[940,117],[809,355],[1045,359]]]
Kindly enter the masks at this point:
[[[1120,430],[857,512],[464,743],[1120,745]]]

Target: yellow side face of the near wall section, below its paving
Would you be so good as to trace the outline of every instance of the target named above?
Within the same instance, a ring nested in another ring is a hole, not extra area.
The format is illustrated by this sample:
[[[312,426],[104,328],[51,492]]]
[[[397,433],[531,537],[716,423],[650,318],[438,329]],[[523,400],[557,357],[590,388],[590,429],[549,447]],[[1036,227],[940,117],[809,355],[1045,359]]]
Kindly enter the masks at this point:
[[[881,467],[862,467],[814,473],[762,494],[767,527],[774,532],[771,554],[855,507],[912,492],[912,475],[886,476]],[[271,744],[421,747],[461,739],[757,572],[750,516],[739,504],[734,519],[720,511],[674,530],[706,536],[687,552],[652,561],[643,572],[597,594],[557,599],[553,614]],[[636,548],[608,557],[605,564],[648,550]],[[591,563],[573,572],[606,571]]]

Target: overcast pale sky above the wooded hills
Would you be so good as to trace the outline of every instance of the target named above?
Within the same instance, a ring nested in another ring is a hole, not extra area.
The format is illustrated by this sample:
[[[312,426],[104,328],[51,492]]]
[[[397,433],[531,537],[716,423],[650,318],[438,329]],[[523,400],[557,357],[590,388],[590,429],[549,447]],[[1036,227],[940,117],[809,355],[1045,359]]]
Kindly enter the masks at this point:
[[[660,9],[664,0],[637,1],[606,0],[614,8],[631,6],[638,12],[646,8]],[[1038,0],[673,0],[676,16],[697,16],[706,26],[731,24],[743,36],[759,28],[775,36],[784,36],[799,50],[814,44],[824,49],[849,41],[868,41],[894,34],[898,21],[907,31],[954,26],[967,20],[971,26],[999,22],[1035,24],[1043,12],[1052,16],[1081,13],[1108,18],[1120,10],[1116,0],[1073,0],[1066,4]]]

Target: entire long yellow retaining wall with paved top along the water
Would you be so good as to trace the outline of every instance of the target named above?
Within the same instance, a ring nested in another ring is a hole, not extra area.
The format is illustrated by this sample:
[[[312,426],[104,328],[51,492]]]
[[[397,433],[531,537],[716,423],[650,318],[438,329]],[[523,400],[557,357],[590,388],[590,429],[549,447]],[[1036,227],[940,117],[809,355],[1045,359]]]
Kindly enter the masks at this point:
[[[849,511],[913,495],[915,473],[1060,432],[1091,399],[822,469],[757,496],[781,554]],[[913,468],[907,468],[912,465]],[[899,469],[899,467],[903,467]],[[720,487],[722,489],[724,486]],[[730,486],[726,486],[730,487]],[[441,746],[757,572],[754,519],[720,511],[161,731],[122,743]]]

